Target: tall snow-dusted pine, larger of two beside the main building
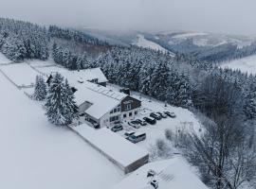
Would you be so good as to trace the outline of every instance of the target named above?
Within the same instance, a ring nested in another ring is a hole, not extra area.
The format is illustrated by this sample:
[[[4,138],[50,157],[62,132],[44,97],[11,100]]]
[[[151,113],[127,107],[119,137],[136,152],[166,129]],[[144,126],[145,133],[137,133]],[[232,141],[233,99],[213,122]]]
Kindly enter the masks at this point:
[[[46,97],[46,115],[57,126],[70,124],[74,117],[74,99],[70,88],[66,87],[64,77],[57,73],[51,80]]]

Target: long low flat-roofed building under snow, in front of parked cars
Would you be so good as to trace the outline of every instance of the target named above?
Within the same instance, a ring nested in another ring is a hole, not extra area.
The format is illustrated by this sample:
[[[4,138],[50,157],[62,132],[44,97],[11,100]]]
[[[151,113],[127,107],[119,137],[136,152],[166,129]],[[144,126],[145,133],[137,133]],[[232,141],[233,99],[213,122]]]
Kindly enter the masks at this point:
[[[109,161],[116,164],[125,174],[148,163],[149,152],[111,131],[92,129],[86,124],[72,129],[89,145],[101,152]]]

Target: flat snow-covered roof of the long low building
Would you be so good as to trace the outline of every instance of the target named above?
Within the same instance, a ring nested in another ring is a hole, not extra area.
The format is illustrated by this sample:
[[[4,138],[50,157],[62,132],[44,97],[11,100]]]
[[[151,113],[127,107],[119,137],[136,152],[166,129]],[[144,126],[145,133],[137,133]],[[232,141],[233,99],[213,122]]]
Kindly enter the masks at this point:
[[[110,129],[93,129],[86,124],[74,127],[73,129],[123,167],[135,163],[137,160],[148,155],[145,149],[129,142]]]

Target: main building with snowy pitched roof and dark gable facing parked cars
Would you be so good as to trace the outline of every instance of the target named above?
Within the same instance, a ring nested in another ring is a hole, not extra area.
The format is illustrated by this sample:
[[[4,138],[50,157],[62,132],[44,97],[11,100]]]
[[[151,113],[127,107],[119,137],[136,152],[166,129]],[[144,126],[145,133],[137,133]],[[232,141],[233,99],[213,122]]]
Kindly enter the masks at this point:
[[[94,121],[100,127],[134,119],[141,107],[141,102],[136,98],[99,84],[84,81],[75,87],[78,90],[75,98],[79,111],[85,113],[89,122]]]

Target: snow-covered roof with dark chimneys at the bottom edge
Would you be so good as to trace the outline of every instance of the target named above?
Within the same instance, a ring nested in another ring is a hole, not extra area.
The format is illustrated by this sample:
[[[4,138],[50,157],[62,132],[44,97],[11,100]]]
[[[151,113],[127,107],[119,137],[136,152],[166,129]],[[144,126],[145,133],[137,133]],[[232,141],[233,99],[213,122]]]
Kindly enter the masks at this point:
[[[209,189],[181,158],[145,164],[112,189],[152,189],[152,178],[147,178],[149,170],[156,173],[158,189]]]

